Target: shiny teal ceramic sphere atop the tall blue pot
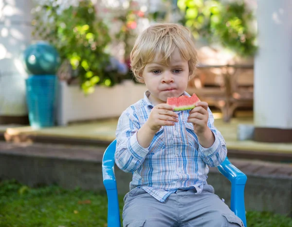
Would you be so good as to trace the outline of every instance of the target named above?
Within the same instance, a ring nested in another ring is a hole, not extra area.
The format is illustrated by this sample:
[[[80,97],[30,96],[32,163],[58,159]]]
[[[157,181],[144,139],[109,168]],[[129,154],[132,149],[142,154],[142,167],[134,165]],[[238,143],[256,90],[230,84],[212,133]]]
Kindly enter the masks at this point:
[[[26,48],[23,53],[26,69],[34,75],[55,74],[60,66],[60,56],[48,42],[39,41]]]

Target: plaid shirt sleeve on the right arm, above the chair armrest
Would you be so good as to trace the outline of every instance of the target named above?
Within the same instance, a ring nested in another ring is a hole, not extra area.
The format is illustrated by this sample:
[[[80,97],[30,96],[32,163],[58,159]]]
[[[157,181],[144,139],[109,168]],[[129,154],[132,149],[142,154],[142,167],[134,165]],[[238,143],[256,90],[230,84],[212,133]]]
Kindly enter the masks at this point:
[[[208,127],[215,136],[215,142],[212,146],[205,148],[199,143],[199,153],[202,160],[211,167],[219,166],[227,157],[227,148],[223,136],[214,126],[214,116],[208,108],[209,119]]]

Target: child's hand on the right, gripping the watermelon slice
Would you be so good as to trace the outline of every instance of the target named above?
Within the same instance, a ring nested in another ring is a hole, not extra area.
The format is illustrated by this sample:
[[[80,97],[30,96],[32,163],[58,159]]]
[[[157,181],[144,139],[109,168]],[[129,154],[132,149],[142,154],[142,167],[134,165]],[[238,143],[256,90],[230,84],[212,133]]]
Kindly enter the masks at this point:
[[[199,102],[196,107],[189,112],[187,122],[191,122],[194,125],[194,132],[197,135],[203,135],[208,129],[208,103]]]

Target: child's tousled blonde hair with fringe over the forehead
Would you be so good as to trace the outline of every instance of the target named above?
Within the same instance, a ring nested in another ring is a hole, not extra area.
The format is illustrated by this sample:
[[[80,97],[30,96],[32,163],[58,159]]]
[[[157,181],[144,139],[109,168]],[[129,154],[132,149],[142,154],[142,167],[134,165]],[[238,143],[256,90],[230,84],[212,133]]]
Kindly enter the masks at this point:
[[[144,30],[135,41],[130,53],[131,69],[138,82],[142,82],[143,70],[157,54],[162,64],[168,65],[171,54],[178,48],[182,58],[188,61],[189,76],[193,76],[198,62],[195,42],[191,32],[174,23],[157,23]]]

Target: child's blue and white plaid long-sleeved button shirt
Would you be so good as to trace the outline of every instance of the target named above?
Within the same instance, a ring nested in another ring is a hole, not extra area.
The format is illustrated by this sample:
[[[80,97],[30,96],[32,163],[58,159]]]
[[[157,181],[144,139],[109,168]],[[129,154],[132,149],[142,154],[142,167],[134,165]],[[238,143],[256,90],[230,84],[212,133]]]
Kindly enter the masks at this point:
[[[176,111],[179,122],[162,126],[151,144],[144,148],[137,141],[137,131],[146,123],[153,108],[149,91],[144,99],[128,107],[120,116],[116,139],[115,163],[125,172],[132,172],[130,190],[143,188],[160,202],[178,189],[196,188],[201,193],[209,168],[220,165],[227,155],[226,144],[214,127],[214,117],[208,108],[208,126],[215,142],[204,148],[198,142],[192,123],[187,122],[189,110]],[[184,95],[188,95],[186,92]]]

